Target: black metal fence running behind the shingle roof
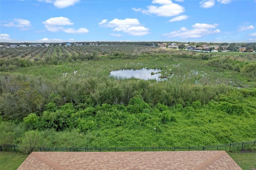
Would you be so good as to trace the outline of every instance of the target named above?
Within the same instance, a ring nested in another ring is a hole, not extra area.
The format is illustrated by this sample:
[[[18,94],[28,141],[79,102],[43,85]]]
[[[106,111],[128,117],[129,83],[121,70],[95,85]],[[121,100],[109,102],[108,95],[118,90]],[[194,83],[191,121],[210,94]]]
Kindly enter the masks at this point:
[[[190,150],[245,150],[255,146],[256,141],[223,144],[216,146],[185,146],[185,147],[115,147],[115,148],[37,148],[0,144],[0,151],[6,152],[127,152],[127,151],[190,151]]]

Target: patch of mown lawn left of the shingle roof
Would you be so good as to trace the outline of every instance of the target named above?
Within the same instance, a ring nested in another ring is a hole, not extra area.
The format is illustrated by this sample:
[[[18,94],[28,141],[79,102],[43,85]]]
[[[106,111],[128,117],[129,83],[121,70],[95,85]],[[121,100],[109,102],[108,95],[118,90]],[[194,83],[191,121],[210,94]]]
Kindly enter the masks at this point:
[[[16,170],[28,157],[28,154],[0,152],[0,170]]]

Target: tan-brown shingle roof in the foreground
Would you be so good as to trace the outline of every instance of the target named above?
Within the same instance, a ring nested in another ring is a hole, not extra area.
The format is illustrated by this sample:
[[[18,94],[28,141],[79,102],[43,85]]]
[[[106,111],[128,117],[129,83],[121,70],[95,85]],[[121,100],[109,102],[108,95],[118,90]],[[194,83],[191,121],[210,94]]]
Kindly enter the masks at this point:
[[[32,152],[18,170],[242,170],[225,151]]]

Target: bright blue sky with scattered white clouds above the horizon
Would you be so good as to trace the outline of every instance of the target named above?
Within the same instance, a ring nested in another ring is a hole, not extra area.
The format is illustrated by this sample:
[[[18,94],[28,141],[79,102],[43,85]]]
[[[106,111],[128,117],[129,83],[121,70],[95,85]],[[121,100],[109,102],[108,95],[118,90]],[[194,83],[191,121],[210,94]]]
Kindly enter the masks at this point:
[[[0,42],[256,42],[256,0],[0,0]]]

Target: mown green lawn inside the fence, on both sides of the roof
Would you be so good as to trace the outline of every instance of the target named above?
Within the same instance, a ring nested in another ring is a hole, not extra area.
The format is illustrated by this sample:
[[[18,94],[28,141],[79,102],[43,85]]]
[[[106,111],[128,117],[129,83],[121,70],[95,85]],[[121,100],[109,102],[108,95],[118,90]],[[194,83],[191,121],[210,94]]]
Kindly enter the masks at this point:
[[[243,170],[256,169],[256,152],[228,152],[228,154]],[[0,152],[0,170],[16,170],[27,157],[28,154]]]

